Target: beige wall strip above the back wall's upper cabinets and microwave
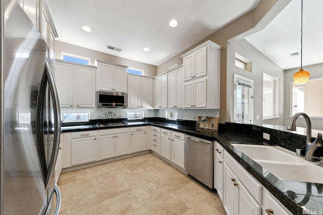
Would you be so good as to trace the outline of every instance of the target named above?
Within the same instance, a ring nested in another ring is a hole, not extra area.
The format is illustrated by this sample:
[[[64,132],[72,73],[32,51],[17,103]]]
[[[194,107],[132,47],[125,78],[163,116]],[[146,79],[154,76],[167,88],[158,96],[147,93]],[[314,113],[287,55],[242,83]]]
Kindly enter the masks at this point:
[[[143,69],[144,75],[149,77],[154,77],[157,74],[157,66],[142,63],[118,56],[114,56],[111,54],[106,54],[99,51],[94,51],[91,49],[83,48],[76,45],[71,45],[68,43],[56,41],[55,42],[55,57],[58,59],[62,59],[62,52],[69,53],[69,54],[75,54],[79,56],[89,57],[90,58],[90,64],[94,65],[95,59],[114,62],[121,65],[126,65],[133,68]]]

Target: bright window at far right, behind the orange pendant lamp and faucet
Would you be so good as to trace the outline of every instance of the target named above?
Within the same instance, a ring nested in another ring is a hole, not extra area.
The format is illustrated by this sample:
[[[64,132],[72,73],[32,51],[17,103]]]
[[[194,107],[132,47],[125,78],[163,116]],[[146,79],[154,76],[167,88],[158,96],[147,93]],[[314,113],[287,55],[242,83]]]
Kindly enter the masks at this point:
[[[323,77],[311,77],[307,84],[291,81],[291,115],[305,112],[311,117],[323,117]],[[315,105],[313,105],[313,101]]]

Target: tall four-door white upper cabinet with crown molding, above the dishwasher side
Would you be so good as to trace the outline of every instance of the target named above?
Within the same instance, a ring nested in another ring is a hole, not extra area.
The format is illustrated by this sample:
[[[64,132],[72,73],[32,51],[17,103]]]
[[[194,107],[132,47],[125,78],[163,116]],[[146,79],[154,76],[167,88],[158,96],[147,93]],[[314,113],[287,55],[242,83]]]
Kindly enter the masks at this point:
[[[181,56],[185,108],[220,109],[220,50],[208,40]]]

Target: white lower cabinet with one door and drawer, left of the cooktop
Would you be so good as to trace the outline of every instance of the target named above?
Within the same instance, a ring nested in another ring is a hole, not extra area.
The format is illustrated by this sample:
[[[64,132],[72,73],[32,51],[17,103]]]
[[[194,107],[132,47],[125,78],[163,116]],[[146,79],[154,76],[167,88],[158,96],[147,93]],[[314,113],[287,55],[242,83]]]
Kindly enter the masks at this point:
[[[97,160],[97,131],[72,132],[72,166]]]

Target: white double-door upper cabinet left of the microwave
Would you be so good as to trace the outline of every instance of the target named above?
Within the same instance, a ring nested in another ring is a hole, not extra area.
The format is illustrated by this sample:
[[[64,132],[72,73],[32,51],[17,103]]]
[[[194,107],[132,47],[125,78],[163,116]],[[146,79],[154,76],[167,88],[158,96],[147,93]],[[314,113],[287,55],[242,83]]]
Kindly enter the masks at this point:
[[[95,108],[95,67],[56,59],[55,80],[60,106]]]

